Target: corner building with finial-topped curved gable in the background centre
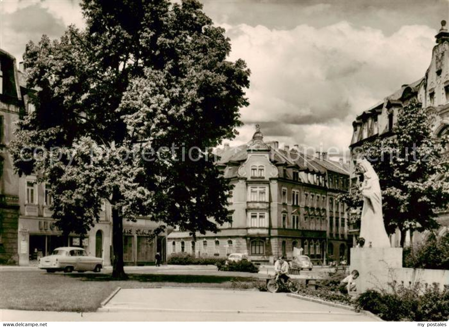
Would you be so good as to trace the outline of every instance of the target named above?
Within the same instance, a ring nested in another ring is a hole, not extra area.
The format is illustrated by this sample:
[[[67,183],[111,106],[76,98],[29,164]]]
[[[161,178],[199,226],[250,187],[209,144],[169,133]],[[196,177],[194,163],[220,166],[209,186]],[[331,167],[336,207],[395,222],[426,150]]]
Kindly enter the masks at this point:
[[[348,254],[346,211],[333,206],[335,195],[348,188],[343,166],[323,154],[311,157],[297,147],[265,143],[258,127],[249,143],[235,148],[225,144],[217,154],[217,165],[233,185],[232,222],[196,241],[189,231],[175,229],[167,238],[168,253],[225,257],[242,252],[252,261],[272,262],[277,255],[291,259],[297,247],[315,263],[324,262],[327,251],[335,257],[340,249],[341,255]]]

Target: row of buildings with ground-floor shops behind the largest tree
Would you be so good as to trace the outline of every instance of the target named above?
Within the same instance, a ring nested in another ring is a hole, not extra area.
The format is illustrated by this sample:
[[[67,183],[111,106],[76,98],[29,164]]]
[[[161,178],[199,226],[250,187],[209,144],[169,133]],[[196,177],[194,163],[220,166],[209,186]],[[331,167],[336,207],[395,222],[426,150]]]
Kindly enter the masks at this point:
[[[90,255],[110,265],[112,253],[111,208],[104,201],[99,221],[87,235],[70,233],[67,237],[55,225],[51,188],[38,183],[35,175],[19,177],[13,171],[8,152],[15,122],[35,110],[26,89],[21,69],[13,56],[0,50],[0,264],[33,264],[37,258],[50,254],[58,246],[81,246]],[[165,260],[167,233],[153,237],[158,223],[146,217],[136,222],[123,222],[123,256],[126,265],[154,264],[159,252]]]

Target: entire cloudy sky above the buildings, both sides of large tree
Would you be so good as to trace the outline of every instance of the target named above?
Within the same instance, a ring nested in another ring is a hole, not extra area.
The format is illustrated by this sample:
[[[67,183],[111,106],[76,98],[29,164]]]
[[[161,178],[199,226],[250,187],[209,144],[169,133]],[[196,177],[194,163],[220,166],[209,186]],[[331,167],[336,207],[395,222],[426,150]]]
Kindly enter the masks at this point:
[[[448,0],[202,2],[252,72],[231,145],[259,123],[266,140],[347,149],[358,113],[424,75],[449,16]],[[0,47],[21,60],[28,40],[70,23],[84,24],[75,0],[0,0]]]

